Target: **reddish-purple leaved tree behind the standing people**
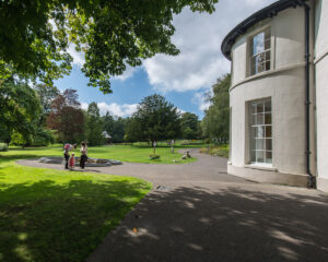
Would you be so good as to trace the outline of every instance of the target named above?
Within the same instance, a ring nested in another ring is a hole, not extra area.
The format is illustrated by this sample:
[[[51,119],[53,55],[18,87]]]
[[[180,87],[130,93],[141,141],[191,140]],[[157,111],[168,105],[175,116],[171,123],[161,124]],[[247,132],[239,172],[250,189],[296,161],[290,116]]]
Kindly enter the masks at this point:
[[[59,94],[51,105],[47,126],[55,129],[60,142],[77,143],[84,139],[84,115],[75,90]]]

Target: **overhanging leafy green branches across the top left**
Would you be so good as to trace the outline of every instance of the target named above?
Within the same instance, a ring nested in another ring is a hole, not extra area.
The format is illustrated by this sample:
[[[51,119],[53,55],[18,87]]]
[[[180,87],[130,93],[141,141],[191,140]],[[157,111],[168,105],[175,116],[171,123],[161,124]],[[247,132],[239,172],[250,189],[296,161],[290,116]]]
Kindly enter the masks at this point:
[[[89,85],[112,93],[109,76],[155,53],[176,56],[174,14],[214,11],[218,0],[0,1],[0,79],[52,80],[68,74],[70,46],[85,52]]]

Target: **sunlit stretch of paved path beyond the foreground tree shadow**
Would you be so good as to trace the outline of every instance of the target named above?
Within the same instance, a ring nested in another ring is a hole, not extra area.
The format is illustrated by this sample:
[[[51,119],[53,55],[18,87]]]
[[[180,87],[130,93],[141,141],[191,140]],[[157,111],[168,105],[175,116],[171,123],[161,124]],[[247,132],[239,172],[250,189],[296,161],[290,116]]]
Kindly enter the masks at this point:
[[[188,150],[198,160],[189,164],[142,164],[127,163],[110,167],[90,167],[86,171],[104,172],[118,176],[138,177],[153,184],[192,186],[212,182],[249,182],[243,178],[226,174],[226,158],[213,157]],[[42,168],[62,169],[61,165],[44,164],[37,159],[17,160],[20,165]],[[79,170],[79,168],[77,168]]]

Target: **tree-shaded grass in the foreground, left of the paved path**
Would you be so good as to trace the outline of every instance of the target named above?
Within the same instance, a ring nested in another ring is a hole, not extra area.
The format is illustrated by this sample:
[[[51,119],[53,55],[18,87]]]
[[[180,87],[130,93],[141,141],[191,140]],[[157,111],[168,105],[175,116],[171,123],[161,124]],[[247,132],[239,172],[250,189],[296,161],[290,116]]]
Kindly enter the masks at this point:
[[[0,188],[0,261],[82,261],[143,198],[127,180]]]

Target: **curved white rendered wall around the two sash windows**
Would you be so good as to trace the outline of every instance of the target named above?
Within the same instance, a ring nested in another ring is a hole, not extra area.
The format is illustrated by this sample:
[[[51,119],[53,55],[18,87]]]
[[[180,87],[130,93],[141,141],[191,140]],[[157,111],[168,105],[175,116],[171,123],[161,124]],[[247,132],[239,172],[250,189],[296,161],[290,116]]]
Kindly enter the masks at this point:
[[[284,10],[250,28],[232,48],[232,166],[247,168],[249,164],[247,103],[271,97],[272,167],[281,174],[306,174],[304,16],[301,7]],[[271,70],[249,76],[247,39],[268,25],[272,34]]]

